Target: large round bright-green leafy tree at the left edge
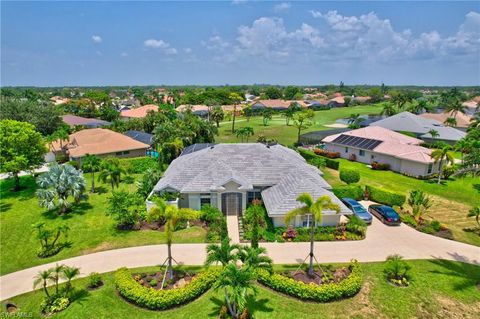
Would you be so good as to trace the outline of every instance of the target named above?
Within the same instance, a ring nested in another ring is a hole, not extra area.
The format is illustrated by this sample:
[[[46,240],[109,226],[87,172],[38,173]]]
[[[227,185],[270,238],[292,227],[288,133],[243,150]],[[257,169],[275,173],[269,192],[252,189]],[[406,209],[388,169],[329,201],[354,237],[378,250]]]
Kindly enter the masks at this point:
[[[13,175],[15,191],[20,190],[18,174],[40,166],[46,152],[45,141],[32,124],[0,121],[0,171]]]

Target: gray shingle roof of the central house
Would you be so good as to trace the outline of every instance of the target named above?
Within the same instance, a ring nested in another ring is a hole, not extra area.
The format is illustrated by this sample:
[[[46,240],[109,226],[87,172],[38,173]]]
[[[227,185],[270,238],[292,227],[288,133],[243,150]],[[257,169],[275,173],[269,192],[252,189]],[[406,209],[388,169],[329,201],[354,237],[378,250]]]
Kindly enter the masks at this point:
[[[272,186],[262,192],[270,215],[285,214],[298,207],[296,198],[305,192],[314,198],[329,195],[341,205],[342,212],[348,213],[328,191],[331,187],[321,175],[297,152],[281,145],[217,144],[175,159],[154,191],[166,188],[182,193],[221,191],[227,182],[235,181],[244,190]]]

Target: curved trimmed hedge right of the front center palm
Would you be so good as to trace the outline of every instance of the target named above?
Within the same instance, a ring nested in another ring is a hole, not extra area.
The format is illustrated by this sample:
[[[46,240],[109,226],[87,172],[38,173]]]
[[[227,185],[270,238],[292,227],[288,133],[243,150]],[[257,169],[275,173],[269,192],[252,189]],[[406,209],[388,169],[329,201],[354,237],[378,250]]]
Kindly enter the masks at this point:
[[[353,261],[349,268],[351,273],[347,278],[338,283],[324,285],[306,284],[280,274],[271,275],[263,269],[258,269],[257,273],[258,281],[273,290],[299,299],[328,302],[352,297],[362,288],[363,275],[360,264]]]

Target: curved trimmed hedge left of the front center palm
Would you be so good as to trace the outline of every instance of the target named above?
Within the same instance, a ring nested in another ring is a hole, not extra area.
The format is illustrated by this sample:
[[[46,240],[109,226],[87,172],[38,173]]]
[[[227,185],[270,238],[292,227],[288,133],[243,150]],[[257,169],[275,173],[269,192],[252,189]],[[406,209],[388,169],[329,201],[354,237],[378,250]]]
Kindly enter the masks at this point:
[[[196,275],[183,288],[156,290],[140,285],[133,279],[130,270],[120,268],[115,272],[115,286],[122,297],[140,307],[164,310],[198,298],[210,289],[219,274],[219,269],[210,268]]]

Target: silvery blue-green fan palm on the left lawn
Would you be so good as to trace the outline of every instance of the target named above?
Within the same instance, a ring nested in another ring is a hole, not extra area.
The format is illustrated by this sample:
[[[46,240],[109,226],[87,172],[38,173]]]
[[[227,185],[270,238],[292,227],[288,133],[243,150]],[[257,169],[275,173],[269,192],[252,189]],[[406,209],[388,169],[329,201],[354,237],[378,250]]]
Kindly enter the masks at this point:
[[[66,213],[70,208],[68,197],[72,196],[75,203],[86,199],[85,178],[82,172],[73,166],[54,164],[49,171],[37,178],[39,189],[36,194],[40,206],[54,209],[59,206],[59,214]]]

